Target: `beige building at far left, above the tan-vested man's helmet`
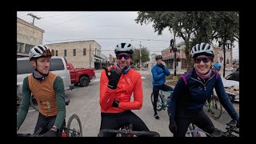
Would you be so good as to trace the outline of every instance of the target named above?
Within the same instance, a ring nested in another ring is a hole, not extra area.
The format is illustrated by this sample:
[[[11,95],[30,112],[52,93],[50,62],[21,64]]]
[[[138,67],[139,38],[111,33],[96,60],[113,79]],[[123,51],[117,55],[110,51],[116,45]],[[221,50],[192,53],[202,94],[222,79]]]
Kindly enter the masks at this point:
[[[33,46],[42,45],[45,31],[17,18],[17,57],[28,56]]]

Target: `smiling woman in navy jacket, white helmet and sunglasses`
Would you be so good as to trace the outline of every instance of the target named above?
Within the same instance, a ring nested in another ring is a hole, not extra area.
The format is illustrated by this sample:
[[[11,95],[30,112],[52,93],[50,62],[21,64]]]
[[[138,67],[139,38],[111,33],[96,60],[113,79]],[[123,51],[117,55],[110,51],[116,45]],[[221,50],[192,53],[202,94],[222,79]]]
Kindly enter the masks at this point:
[[[214,89],[222,106],[232,118],[227,125],[239,127],[238,114],[226,95],[222,78],[217,71],[211,69],[214,59],[213,46],[204,42],[196,44],[191,54],[194,58],[194,68],[178,79],[170,98],[167,110],[170,132],[174,137],[185,137],[188,126],[194,123],[208,134],[220,136],[221,132],[215,129],[213,122],[203,111],[203,106]]]

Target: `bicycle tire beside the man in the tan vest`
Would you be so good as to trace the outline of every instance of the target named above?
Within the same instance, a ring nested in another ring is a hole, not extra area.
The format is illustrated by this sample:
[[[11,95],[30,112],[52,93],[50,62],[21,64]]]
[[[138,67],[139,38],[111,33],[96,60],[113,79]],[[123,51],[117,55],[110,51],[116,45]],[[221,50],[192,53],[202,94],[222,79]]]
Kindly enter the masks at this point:
[[[76,129],[71,129],[71,122],[76,119],[78,121],[78,125],[79,125],[79,130]],[[82,125],[81,125],[81,121],[80,118],[78,117],[77,114],[73,114],[71,115],[71,117],[69,118],[67,125],[66,125],[66,135],[67,137],[82,137]]]

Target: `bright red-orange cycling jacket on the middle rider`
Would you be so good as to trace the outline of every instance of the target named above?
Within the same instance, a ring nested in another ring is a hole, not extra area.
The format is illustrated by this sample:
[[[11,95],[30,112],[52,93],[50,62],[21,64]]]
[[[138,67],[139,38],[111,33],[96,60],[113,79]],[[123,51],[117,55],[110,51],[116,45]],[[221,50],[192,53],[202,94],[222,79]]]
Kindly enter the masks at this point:
[[[117,67],[114,66],[114,68]],[[108,67],[108,70],[110,70],[110,67]],[[106,72],[102,70],[99,99],[102,113],[121,113],[125,110],[139,110],[142,108],[143,91],[141,74],[133,69],[130,69],[127,74],[122,74],[116,90],[107,87],[108,82]],[[134,101],[130,102],[133,92]],[[119,101],[118,107],[111,106],[114,99]]]

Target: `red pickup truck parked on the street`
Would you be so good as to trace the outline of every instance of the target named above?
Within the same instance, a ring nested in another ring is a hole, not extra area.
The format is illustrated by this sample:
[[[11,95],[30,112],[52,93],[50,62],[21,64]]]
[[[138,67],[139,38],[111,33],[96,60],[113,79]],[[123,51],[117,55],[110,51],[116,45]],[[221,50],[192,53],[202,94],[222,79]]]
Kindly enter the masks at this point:
[[[74,69],[72,63],[67,63],[70,70],[70,79],[72,84],[79,84],[80,86],[88,86],[91,79],[96,78],[94,68],[91,69]]]

